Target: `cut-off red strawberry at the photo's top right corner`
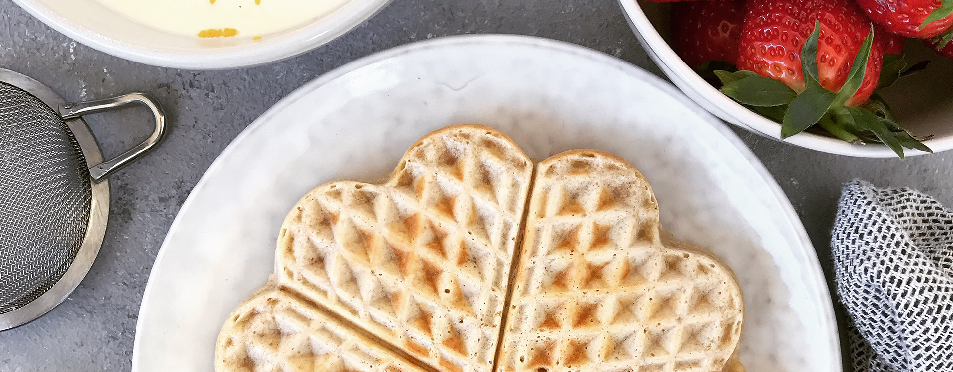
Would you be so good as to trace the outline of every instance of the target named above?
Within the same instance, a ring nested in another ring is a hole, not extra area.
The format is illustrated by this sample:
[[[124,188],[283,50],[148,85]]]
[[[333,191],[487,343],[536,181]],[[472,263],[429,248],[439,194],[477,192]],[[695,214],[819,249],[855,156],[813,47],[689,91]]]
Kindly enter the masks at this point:
[[[857,0],[857,5],[884,29],[903,36],[934,37],[953,26],[953,14],[940,0]],[[940,18],[921,28],[934,11]]]

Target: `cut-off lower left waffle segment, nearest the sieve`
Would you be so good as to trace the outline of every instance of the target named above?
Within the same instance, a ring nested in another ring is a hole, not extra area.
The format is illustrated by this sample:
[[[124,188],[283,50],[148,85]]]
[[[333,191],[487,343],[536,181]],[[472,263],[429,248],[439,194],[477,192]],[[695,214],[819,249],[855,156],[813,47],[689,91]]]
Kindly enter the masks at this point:
[[[274,287],[258,291],[229,316],[215,370],[426,372]]]

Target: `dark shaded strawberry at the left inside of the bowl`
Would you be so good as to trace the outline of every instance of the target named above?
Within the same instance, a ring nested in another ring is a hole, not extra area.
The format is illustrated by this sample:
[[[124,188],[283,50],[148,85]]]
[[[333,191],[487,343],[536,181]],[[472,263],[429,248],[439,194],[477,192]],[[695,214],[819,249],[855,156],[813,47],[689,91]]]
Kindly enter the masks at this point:
[[[708,61],[735,65],[744,0],[672,4],[672,44],[693,68]]]

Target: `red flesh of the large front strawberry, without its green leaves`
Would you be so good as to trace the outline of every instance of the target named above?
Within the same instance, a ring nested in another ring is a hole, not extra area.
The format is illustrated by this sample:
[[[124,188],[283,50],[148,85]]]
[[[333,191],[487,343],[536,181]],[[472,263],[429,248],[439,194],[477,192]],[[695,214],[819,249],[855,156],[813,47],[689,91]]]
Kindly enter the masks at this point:
[[[804,90],[801,47],[821,22],[817,62],[821,87],[838,91],[867,33],[867,17],[849,0],[750,0],[741,29],[738,69],[780,80]],[[873,43],[861,88],[847,106],[861,106],[877,88],[883,61],[882,43]]]

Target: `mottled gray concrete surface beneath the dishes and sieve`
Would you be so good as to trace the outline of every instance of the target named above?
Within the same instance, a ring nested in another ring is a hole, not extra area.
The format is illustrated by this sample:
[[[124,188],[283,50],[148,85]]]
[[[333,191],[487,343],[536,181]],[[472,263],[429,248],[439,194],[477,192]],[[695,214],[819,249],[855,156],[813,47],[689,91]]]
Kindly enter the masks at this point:
[[[576,43],[660,75],[616,0],[395,0],[354,32],[305,55],[264,67],[213,72],[154,68],[112,57],[53,31],[10,0],[0,0],[0,19],[0,67],[28,74],[68,100],[152,92],[168,109],[173,126],[162,147],[112,176],[106,241],[83,284],[46,317],[0,332],[2,372],[129,370],[139,302],[152,261],[186,196],[255,117],[321,73],[415,40],[499,32]],[[111,115],[91,119],[107,156],[150,131],[145,112]],[[107,122],[129,126],[110,127]],[[880,186],[912,186],[953,205],[953,153],[906,161],[855,159],[736,131],[797,208],[828,277],[829,229],[843,183],[865,178]],[[850,370],[849,362],[845,369]]]

